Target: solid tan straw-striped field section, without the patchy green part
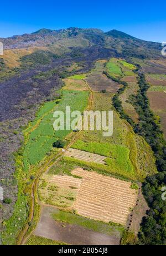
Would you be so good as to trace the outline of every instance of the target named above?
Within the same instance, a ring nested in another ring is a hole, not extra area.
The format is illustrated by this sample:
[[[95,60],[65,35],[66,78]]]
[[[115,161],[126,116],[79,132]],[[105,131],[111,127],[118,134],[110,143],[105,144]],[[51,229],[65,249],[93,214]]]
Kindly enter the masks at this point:
[[[78,214],[107,223],[126,224],[137,198],[131,183],[81,168],[71,173],[83,178],[73,205]]]

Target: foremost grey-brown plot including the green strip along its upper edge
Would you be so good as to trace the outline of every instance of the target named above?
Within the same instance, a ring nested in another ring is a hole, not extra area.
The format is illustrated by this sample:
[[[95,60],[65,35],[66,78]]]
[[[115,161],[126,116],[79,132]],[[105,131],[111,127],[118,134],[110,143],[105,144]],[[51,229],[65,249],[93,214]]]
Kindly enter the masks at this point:
[[[102,223],[57,208],[44,206],[33,236],[40,237],[42,242],[44,242],[43,238],[46,238],[75,245],[120,244],[123,230],[124,228],[118,227],[118,225]],[[34,240],[33,237],[32,239]]]

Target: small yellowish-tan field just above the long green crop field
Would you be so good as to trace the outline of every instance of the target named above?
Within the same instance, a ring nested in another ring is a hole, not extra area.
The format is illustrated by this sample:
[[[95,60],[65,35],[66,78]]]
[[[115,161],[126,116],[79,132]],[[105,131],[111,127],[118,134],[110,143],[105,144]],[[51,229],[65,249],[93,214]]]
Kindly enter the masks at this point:
[[[65,82],[65,90],[76,90],[76,91],[87,91],[88,88],[85,85],[85,82],[82,80],[74,80],[74,79],[63,79]]]

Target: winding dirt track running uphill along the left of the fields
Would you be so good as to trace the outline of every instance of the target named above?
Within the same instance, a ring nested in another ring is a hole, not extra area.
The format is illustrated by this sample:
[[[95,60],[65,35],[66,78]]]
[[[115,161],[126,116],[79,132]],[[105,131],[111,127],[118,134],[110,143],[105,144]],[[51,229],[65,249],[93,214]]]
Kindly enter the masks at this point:
[[[93,91],[91,90],[90,86],[87,84],[86,80],[84,80],[85,85],[89,88],[90,90],[90,97],[89,97],[89,104],[87,106],[87,110],[91,109],[92,107],[92,101],[93,101]],[[74,144],[74,142],[77,140],[77,138],[79,137],[81,131],[76,132],[75,136],[72,138],[72,140],[70,141],[70,143],[68,144],[68,146],[66,146],[65,151],[68,150],[70,148],[70,146],[72,144]],[[33,221],[34,219],[34,211],[35,211],[35,200],[37,200],[37,203],[41,206],[42,204],[40,203],[40,200],[38,198],[38,192],[37,192],[37,198],[35,198],[35,191],[38,190],[38,182],[39,182],[39,178],[40,176],[44,173],[44,170],[46,169],[46,173],[48,173],[49,169],[54,166],[65,154],[65,151],[63,152],[59,152],[59,154],[57,154],[56,156],[52,157],[48,163],[46,163],[41,169],[39,169],[38,175],[36,176],[36,178],[33,181],[32,184],[32,207],[30,209],[29,212],[29,219],[28,219],[28,223]],[[58,158],[57,158],[58,157]],[[55,161],[54,161],[55,159]],[[50,165],[50,163],[54,161],[54,163],[52,165]],[[50,166],[49,166],[50,165]],[[27,239],[30,237],[30,235],[34,232],[34,230],[32,230],[32,232],[30,232],[30,234],[28,234],[28,236],[26,235],[29,229],[29,225],[28,223],[25,225],[24,229],[22,230],[22,232],[20,232],[19,235],[19,240],[17,242],[18,245],[23,245],[26,243]]]

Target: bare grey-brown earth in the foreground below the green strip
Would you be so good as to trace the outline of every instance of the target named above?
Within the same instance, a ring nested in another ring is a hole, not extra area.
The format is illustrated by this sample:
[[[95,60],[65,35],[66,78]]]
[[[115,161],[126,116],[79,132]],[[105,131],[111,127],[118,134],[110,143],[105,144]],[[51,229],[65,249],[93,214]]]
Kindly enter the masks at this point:
[[[58,209],[44,206],[42,216],[35,229],[34,235],[49,238],[52,240],[63,241],[74,245],[117,245],[120,244],[120,234],[106,235],[99,232],[71,225],[59,223],[52,218],[52,214]]]

